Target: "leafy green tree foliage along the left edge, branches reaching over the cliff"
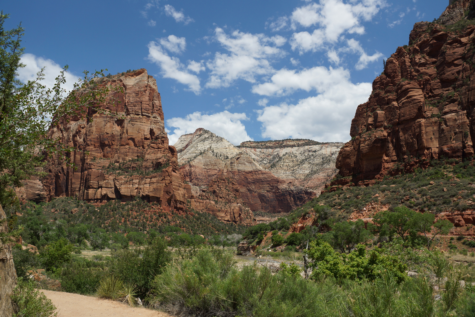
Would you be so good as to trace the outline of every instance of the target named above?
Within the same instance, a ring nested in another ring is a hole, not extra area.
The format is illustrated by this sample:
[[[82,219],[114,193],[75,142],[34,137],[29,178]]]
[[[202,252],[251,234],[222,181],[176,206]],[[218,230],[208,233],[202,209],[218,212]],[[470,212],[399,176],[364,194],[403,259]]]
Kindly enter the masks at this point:
[[[13,187],[21,186],[21,181],[29,175],[38,175],[36,168],[44,162],[38,148],[44,152],[71,150],[61,148],[57,140],[46,138],[48,128],[67,121],[70,115],[84,115],[89,108],[96,108],[93,105],[103,104],[113,92],[95,80],[104,76],[103,70],[93,74],[85,71],[84,78],[67,95],[62,88],[67,66],[58,74],[52,88],[41,84],[45,77],[43,69],[35,80],[22,84],[16,77],[18,69],[25,67],[20,62],[25,49],[21,47],[24,29],[20,23],[6,30],[4,23],[8,18],[9,14],[0,12],[0,171],[7,172],[0,174],[0,205],[4,207],[15,195]]]

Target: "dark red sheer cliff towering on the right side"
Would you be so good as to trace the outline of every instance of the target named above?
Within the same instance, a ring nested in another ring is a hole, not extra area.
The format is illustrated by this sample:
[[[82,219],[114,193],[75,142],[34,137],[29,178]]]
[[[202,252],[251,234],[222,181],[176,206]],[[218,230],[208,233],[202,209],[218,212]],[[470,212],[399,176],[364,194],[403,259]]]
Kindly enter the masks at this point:
[[[447,7],[441,19],[452,17],[453,23],[454,12],[468,5],[464,0]],[[356,110],[352,140],[336,161],[347,178],[336,182],[380,179],[442,155],[474,154],[475,25],[450,29],[416,23],[409,46],[388,58],[368,102]]]

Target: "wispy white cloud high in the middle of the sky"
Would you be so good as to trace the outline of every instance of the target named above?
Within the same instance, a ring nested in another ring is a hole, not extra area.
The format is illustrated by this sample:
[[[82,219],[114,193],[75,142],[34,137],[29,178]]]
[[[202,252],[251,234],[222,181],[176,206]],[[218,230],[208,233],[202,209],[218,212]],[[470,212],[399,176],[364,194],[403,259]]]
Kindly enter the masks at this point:
[[[228,53],[216,52],[207,67],[211,70],[206,87],[228,87],[237,79],[256,82],[257,76],[272,74],[272,59],[285,56],[286,52],[278,48],[285,38],[266,37],[264,34],[244,33],[236,30],[229,36],[221,28],[215,29],[214,39],[228,50]],[[270,45],[274,44],[274,45]],[[269,59],[271,61],[269,61]]]

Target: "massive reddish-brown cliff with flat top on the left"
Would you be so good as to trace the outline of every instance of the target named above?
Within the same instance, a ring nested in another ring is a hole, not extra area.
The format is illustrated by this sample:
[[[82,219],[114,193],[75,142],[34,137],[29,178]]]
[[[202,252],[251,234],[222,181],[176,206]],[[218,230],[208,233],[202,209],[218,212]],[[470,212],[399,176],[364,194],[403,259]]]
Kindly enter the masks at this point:
[[[168,145],[155,79],[145,69],[104,79],[123,90],[103,106],[117,115],[89,109],[86,118],[73,117],[49,131],[50,138],[74,147],[68,157],[76,168],[53,155],[43,181],[47,196],[90,202],[138,196],[182,210],[185,185],[177,152]]]

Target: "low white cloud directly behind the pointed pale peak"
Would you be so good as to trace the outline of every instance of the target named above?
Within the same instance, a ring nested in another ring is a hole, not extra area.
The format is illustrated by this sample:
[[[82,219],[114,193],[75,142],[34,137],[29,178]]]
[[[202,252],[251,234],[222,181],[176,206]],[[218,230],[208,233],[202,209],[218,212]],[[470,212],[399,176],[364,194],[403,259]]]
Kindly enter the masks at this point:
[[[175,127],[173,133],[168,135],[170,144],[175,144],[183,134],[195,132],[198,128],[204,128],[214,134],[224,137],[232,144],[253,140],[246,132],[246,126],[241,120],[249,120],[245,113],[218,112],[212,115],[194,112],[184,118],[176,117],[166,120],[169,127]]]

